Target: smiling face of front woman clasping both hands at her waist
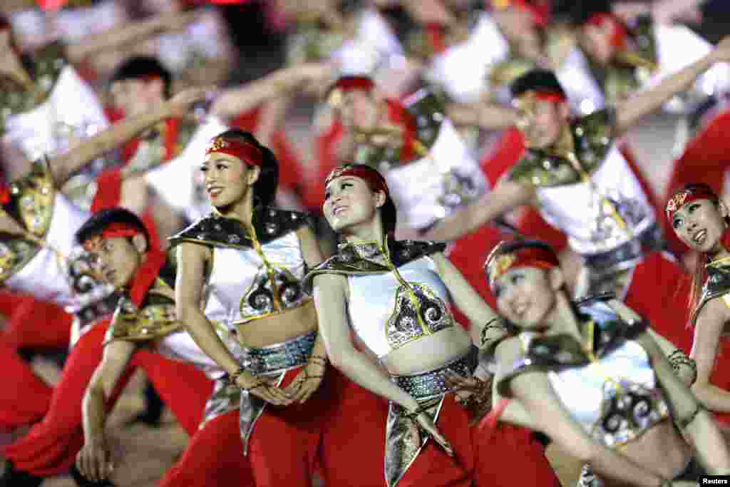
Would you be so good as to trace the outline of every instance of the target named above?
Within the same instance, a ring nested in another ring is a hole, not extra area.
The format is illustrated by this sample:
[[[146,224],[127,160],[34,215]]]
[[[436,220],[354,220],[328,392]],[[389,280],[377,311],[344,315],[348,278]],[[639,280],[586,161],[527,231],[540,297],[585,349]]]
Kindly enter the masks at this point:
[[[210,204],[218,210],[242,201],[253,191],[260,173],[258,166],[248,166],[239,158],[220,152],[208,154],[200,170]]]

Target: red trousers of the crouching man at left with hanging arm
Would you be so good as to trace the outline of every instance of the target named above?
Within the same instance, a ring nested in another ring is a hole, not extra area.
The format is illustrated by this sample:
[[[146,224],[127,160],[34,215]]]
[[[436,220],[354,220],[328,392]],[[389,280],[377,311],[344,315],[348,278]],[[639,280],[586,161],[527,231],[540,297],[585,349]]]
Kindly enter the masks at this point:
[[[43,421],[18,442],[4,448],[15,467],[39,477],[58,475],[74,463],[83,445],[81,402],[96,366],[101,362],[108,323],[99,323],[84,334],[66,360],[61,381],[53,391]],[[188,434],[201,419],[212,382],[189,364],[172,361],[150,350],[139,350],[115,388],[111,410],[136,367],[142,367],[164,402]],[[23,397],[19,398],[21,401]]]

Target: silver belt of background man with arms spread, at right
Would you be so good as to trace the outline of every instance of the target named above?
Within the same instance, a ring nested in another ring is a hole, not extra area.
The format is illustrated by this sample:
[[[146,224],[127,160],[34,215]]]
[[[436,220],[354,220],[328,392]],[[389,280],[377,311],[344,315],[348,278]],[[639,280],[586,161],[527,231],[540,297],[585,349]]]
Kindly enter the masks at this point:
[[[654,223],[636,238],[613,250],[584,255],[585,265],[601,275],[628,269],[639,261],[645,252],[664,248],[661,227]]]

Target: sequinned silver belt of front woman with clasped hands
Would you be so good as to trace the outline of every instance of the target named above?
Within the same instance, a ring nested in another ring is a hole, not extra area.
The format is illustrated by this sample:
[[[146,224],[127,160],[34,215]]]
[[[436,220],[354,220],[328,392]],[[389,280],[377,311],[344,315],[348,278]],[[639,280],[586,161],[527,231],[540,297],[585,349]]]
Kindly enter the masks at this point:
[[[239,361],[253,375],[270,375],[304,365],[312,354],[317,331],[264,348],[240,348]]]

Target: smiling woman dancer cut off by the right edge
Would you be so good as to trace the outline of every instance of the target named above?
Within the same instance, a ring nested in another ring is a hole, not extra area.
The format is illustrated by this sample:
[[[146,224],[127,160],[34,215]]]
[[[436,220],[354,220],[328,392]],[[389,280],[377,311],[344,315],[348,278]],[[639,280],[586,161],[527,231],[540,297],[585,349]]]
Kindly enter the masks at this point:
[[[728,209],[710,186],[686,185],[666,203],[666,218],[675,234],[703,262],[696,266],[691,299],[694,342],[691,356],[697,363],[692,391],[723,425],[730,423],[730,375],[718,361],[728,353],[722,340],[730,321],[730,232]],[[719,299],[716,299],[719,298]]]

